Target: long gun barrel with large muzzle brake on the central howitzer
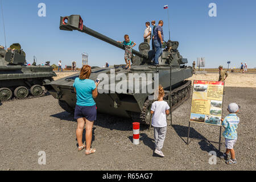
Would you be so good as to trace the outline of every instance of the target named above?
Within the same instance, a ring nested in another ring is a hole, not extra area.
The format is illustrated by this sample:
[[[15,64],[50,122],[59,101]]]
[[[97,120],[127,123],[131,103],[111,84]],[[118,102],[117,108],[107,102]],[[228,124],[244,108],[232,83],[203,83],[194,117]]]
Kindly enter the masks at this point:
[[[95,38],[98,38],[100,40],[103,40],[104,42],[112,44],[115,47],[125,49],[121,43],[118,43],[117,41],[109,38],[108,36],[102,35],[86,27],[83,24],[83,20],[80,15],[71,15],[71,16],[64,16],[64,17],[60,16],[60,30],[67,30],[67,31],[78,30],[80,32],[84,32],[85,34],[94,36]],[[147,55],[144,55],[141,52],[135,51],[134,49],[133,49],[133,54],[144,59],[148,58]]]

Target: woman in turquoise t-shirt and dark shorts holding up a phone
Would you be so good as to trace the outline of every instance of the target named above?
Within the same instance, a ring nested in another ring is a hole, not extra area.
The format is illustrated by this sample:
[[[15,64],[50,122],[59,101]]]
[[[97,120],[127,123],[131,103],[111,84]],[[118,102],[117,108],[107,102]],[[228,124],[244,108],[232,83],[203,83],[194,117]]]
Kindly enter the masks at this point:
[[[76,137],[79,144],[78,151],[86,147],[85,155],[96,152],[95,148],[90,148],[92,143],[93,123],[97,117],[96,103],[93,98],[98,96],[97,86],[100,81],[90,80],[92,69],[89,65],[83,65],[79,77],[73,84],[76,93],[75,119],[77,119]],[[82,143],[82,131],[85,125],[86,146]]]

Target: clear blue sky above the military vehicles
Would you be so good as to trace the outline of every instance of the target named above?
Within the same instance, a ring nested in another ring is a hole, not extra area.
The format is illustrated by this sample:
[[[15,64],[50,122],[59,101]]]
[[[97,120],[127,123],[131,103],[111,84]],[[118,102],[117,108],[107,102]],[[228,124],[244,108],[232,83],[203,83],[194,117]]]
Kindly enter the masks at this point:
[[[1,0],[0,0],[1,1]],[[46,16],[38,16],[39,3],[45,3]],[[216,3],[217,16],[210,17],[209,3]],[[256,1],[255,0],[180,0],[180,1],[43,1],[2,0],[6,44],[20,43],[26,59],[37,64],[51,61],[82,65],[82,52],[88,53],[88,64],[102,67],[124,64],[124,51],[79,31],[59,30],[60,16],[80,14],[86,27],[114,40],[128,34],[137,43],[143,42],[145,22],[163,20],[164,39],[168,40],[168,5],[171,40],[179,41],[179,52],[188,64],[205,57],[205,68],[218,65],[256,67]],[[1,9],[0,9],[1,10]],[[5,46],[2,12],[0,45]]]

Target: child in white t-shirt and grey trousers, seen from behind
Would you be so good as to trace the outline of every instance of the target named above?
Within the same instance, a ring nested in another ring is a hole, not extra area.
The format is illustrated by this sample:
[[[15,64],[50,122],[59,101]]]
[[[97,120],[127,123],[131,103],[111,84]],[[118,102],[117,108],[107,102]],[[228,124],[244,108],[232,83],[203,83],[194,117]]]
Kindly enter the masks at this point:
[[[159,85],[159,95],[158,101],[153,102],[151,106],[152,115],[152,126],[154,126],[154,136],[155,136],[155,154],[164,157],[163,148],[164,139],[166,138],[167,122],[166,114],[169,114],[169,105],[163,100],[164,90],[163,86]]]

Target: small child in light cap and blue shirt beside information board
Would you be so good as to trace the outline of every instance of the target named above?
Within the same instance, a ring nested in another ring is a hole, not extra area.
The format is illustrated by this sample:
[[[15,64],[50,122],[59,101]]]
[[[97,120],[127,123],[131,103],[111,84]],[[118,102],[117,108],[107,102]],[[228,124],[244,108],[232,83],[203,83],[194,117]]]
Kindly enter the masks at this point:
[[[233,149],[234,144],[237,141],[237,125],[240,119],[237,117],[239,106],[236,103],[231,103],[228,106],[229,115],[225,119],[221,118],[222,126],[225,127],[225,131],[222,134],[225,138],[226,152],[221,156],[226,160],[226,164],[236,164],[235,151]],[[231,159],[228,160],[228,154],[231,154]]]

